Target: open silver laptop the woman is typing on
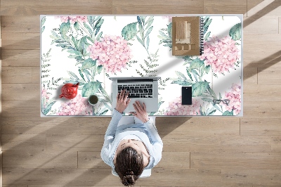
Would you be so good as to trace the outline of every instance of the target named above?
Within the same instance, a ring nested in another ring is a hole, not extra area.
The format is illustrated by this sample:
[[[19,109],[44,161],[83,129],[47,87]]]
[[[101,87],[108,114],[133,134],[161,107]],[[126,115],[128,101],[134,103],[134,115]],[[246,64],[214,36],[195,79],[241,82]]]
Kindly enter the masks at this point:
[[[117,94],[129,91],[131,102],[124,112],[136,112],[133,103],[145,103],[147,112],[158,111],[158,80],[160,77],[110,77],[112,80],[112,108],[117,103]]]

